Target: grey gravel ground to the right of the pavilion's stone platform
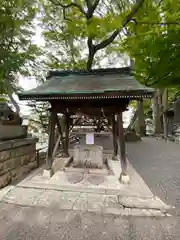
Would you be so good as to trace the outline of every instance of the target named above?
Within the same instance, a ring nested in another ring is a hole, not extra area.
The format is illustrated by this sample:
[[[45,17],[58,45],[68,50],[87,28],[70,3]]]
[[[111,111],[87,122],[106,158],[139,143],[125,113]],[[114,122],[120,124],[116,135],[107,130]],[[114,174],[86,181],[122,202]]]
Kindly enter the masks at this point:
[[[152,192],[180,216],[180,145],[147,137],[127,144],[128,158]]]

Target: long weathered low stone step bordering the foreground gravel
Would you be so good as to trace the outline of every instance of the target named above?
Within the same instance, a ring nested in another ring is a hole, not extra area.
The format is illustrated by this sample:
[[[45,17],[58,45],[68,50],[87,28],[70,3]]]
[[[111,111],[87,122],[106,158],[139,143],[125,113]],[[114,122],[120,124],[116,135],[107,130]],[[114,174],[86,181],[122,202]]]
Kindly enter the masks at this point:
[[[124,207],[115,195],[80,193],[16,187],[1,202],[21,206],[46,207],[57,210],[98,212],[122,216],[167,216],[160,209]]]

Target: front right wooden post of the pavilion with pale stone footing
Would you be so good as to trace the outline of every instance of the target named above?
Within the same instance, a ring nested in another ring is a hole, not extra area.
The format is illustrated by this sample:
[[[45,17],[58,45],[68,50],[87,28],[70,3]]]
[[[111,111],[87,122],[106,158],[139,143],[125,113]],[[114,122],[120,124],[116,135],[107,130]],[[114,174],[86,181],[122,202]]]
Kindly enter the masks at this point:
[[[119,138],[119,155],[120,155],[121,169],[122,169],[119,180],[121,183],[127,184],[129,183],[130,178],[127,174],[126,145],[125,145],[123,118],[122,118],[121,110],[118,114],[118,138]]]

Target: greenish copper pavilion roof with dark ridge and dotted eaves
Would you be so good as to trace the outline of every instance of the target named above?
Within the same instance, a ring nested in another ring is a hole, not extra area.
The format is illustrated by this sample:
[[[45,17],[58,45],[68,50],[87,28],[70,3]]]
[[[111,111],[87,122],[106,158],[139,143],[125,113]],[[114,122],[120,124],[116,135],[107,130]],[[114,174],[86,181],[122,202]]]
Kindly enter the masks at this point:
[[[23,99],[52,99],[90,96],[105,93],[129,95],[152,94],[153,89],[141,85],[130,73],[130,68],[97,69],[87,71],[54,71],[35,89],[19,93]]]

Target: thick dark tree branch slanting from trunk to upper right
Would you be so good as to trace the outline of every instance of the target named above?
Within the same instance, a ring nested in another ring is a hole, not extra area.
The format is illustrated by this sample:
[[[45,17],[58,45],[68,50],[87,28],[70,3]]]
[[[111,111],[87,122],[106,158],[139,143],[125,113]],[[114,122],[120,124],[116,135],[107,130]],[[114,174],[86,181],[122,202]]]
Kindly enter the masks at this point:
[[[100,49],[103,49],[105,47],[107,47],[110,43],[112,43],[114,41],[114,39],[118,36],[118,34],[120,33],[120,31],[132,20],[133,16],[138,12],[138,10],[141,8],[141,6],[143,5],[145,0],[139,0],[137,1],[137,3],[135,4],[134,8],[132,9],[132,11],[126,16],[126,18],[124,19],[121,27],[119,29],[116,29],[113,34],[103,40],[101,43],[97,44],[95,46],[95,50],[98,51]]]

